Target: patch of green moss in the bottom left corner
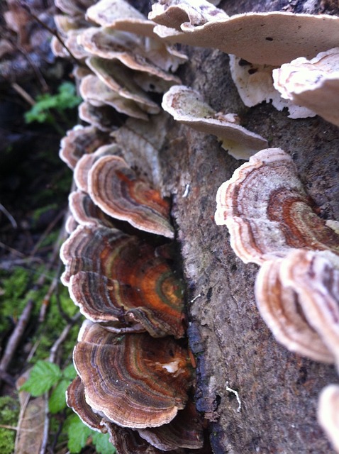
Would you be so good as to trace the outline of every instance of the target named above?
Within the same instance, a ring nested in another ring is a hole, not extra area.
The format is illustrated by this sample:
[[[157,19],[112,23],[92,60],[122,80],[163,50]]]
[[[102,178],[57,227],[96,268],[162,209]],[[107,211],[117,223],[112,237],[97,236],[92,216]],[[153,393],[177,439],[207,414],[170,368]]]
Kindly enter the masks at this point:
[[[16,426],[19,414],[19,403],[9,396],[0,397],[0,421],[6,426]],[[7,428],[0,428],[0,453],[12,454],[16,431]]]

